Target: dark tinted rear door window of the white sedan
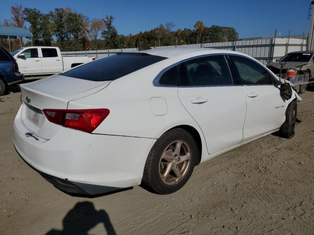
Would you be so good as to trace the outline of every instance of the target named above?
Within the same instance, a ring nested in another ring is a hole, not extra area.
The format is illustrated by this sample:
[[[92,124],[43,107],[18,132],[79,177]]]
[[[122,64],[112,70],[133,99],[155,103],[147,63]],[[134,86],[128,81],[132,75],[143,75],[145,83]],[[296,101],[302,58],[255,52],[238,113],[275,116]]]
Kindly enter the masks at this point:
[[[186,81],[186,78],[185,80],[181,78],[180,85],[185,86],[233,85],[228,64],[223,55],[201,57],[189,60],[185,62],[183,65],[186,68],[188,81]]]

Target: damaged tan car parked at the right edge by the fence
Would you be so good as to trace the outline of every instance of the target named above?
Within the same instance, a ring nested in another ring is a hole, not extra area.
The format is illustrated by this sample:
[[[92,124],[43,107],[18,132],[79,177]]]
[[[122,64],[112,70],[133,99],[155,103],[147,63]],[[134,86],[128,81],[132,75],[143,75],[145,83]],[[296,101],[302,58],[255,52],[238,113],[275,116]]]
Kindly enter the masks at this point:
[[[309,74],[311,77],[314,74],[314,51],[294,51],[290,52],[280,60],[273,63],[268,63],[266,67],[278,74],[280,71],[280,62],[286,62],[283,65],[282,73],[286,73],[288,70],[296,71],[297,74]]]

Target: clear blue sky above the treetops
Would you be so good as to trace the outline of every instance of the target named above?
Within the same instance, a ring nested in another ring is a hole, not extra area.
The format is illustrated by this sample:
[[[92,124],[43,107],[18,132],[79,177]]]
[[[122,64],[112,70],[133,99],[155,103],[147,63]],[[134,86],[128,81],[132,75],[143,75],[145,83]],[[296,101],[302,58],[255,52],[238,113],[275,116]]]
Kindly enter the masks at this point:
[[[0,0],[0,22],[11,19],[10,6],[37,8],[48,13],[70,7],[89,19],[112,15],[119,34],[135,34],[173,22],[178,28],[235,27],[239,38],[269,37],[275,29],[282,35],[308,33],[310,0]]]

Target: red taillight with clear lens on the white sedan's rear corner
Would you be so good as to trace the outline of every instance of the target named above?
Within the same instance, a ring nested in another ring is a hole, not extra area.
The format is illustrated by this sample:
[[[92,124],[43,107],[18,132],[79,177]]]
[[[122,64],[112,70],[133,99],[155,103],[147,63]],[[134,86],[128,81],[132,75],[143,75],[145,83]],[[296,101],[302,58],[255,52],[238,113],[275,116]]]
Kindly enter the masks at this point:
[[[110,113],[108,109],[44,109],[43,112],[52,123],[89,133]]]

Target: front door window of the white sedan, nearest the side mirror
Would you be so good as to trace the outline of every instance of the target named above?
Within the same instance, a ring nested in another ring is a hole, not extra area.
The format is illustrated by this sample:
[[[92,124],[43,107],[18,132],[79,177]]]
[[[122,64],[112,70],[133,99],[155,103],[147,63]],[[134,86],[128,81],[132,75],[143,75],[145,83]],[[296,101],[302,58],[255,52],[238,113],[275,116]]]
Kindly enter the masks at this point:
[[[235,71],[233,71],[236,85],[272,84],[271,77],[258,63],[242,56],[230,55]]]

